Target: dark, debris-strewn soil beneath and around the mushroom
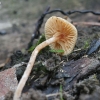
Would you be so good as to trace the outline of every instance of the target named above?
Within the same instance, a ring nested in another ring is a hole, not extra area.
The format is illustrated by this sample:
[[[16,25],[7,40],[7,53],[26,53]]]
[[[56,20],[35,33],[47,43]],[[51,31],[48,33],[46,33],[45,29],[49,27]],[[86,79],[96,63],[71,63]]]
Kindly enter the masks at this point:
[[[69,56],[60,56],[50,52],[49,47],[38,54],[34,68],[23,89],[22,100],[87,100],[87,98],[99,98],[95,94],[99,95],[98,88],[100,88],[100,26],[76,25],[76,28],[78,40]],[[31,52],[14,52],[2,70],[21,62],[27,64],[30,54]],[[18,81],[26,68],[26,64],[16,69]],[[11,100],[12,95],[10,93],[7,98],[9,97]]]

